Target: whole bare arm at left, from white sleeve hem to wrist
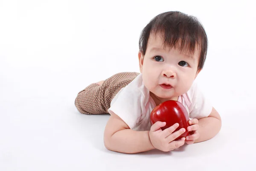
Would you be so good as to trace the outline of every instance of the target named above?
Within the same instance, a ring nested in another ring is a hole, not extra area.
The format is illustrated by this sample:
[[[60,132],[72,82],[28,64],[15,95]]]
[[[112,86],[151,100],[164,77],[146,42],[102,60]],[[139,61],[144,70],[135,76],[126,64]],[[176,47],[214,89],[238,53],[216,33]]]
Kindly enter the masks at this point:
[[[131,130],[116,114],[111,114],[104,131],[104,145],[108,150],[121,153],[139,153],[154,149],[149,131]]]

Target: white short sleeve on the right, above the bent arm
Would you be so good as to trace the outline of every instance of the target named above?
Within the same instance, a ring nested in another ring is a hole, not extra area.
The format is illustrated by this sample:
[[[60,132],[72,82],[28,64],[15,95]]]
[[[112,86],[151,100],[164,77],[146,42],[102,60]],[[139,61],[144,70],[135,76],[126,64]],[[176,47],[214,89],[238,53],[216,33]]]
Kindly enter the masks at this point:
[[[189,107],[189,118],[201,119],[212,112],[212,104],[197,84],[194,85],[192,102]]]

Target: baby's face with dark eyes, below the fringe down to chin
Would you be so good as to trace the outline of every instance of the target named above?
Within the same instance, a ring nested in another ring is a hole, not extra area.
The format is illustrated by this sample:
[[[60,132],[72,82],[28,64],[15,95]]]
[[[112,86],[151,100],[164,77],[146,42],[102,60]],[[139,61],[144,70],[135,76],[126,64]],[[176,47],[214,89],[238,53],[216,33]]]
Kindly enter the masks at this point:
[[[140,72],[143,73],[143,84],[158,100],[177,100],[186,93],[197,76],[198,51],[193,58],[182,54],[179,50],[166,48],[159,35],[150,35],[145,56],[139,52]],[[160,84],[170,84],[165,89]]]

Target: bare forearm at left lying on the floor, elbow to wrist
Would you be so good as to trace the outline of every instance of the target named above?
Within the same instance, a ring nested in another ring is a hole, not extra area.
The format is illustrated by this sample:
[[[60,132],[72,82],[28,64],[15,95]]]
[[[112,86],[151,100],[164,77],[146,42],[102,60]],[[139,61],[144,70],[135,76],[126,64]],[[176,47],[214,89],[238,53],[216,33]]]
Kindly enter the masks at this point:
[[[108,150],[129,154],[152,150],[154,146],[148,133],[149,131],[119,130],[109,139]]]

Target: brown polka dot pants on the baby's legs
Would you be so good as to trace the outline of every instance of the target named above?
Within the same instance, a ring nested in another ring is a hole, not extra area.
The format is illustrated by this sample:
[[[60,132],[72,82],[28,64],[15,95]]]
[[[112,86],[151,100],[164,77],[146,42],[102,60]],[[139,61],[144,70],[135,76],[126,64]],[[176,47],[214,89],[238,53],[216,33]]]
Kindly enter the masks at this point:
[[[90,84],[78,93],[75,100],[77,110],[83,114],[108,113],[112,99],[139,74],[120,72],[106,79],[102,85]]]

